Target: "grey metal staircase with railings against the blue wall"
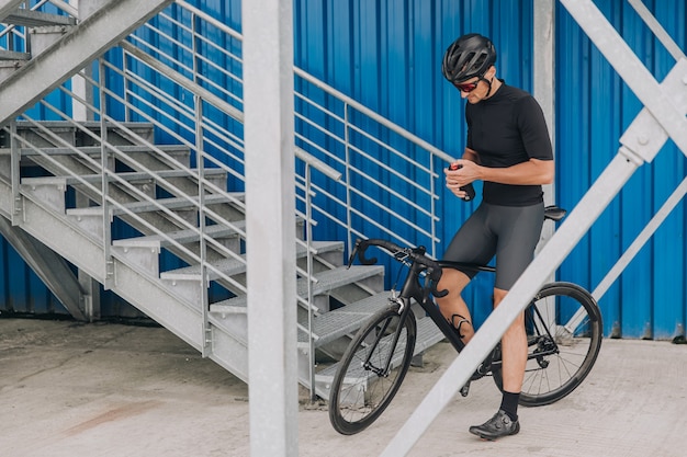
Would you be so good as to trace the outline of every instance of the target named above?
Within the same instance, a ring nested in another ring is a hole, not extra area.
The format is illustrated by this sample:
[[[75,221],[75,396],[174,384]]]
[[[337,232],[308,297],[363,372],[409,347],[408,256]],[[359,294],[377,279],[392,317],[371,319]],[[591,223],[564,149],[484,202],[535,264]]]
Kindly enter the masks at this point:
[[[241,139],[234,133],[243,121],[240,101],[223,88],[206,89],[199,75],[185,77],[183,68],[164,66],[136,46],[133,32],[168,3],[101,1],[89,3],[90,11],[79,16],[78,11],[49,14],[0,0],[0,19],[13,24],[5,32],[24,31],[16,38],[23,43],[20,50],[0,53],[11,62],[0,71],[0,95],[7,100],[0,106],[0,232],[75,318],[98,319],[97,293],[89,286],[94,281],[248,381],[249,235]],[[212,23],[191,5],[177,4]],[[48,31],[52,43],[36,46],[36,36]],[[124,55],[122,64],[105,57],[113,47]],[[184,96],[150,89],[133,69],[136,65],[161,69],[180,93],[190,94],[191,105]],[[100,79],[92,76],[95,67]],[[122,78],[127,92],[109,88],[103,75]],[[77,93],[77,87],[88,89]],[[154,114],[139,102],[148,90],[165,104]],[[53,92],[74,100],[71,110],[83,108],[85,118],[75,119],[45,98]],[[31,108],[36,103],[58,119],[41,119]],[[127,121],[111,114],[119,105],[125,106]],[[204,117],[207,105],[224,113],[224,121]],[[170,125],[165,116],[181,121]],[[188,118],[192,128],[184,124]],[[296,156],[306,169],[326,169],[301,148]],[[309,216],[315,208],[311,196],[319,188],[308,180],[297,180],[297,186],[304,208],[294,240],[299,379],[327,397],[334,369],[326,368],[328,362],[387,300],[385,269],[347,269],[342,241],[313,240],[317,220]],[[441,339],[436,329],[420,328],[418,353]],[[319,361],[327,362],[322,364],[326,369],[317,373]]]

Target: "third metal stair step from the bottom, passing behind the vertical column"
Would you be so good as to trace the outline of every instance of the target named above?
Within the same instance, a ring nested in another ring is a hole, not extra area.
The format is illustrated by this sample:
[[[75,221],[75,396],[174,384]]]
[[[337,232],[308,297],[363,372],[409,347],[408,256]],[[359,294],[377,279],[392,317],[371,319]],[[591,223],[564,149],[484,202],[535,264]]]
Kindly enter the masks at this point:
[[[367,279],[368,277],[374,275],[383,274],[383,265],[356,265],[350,269],[339,266],[334,270],[327,270],[315,275],[317,283],[314,283],[312,286],[313,295],[323,295],[337,287],[352,284],[357,281]],[[307,283],[308,281],[306,278],[300,278],[297,281],[296,294],[299,294],[300,297],[307,297]],[[245,295],[239,295],[238,297],[210,305],[210,312],[221,315],[246,313],[247,305],[247,297]]]

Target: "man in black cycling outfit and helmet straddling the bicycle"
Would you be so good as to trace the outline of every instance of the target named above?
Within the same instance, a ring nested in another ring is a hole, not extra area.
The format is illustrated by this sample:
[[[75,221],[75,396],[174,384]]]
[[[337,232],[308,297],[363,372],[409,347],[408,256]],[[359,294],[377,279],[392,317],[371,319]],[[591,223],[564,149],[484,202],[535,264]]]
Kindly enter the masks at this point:
[[[468,99],[468,142],[461,159],[446,170],[447,187],[466,198],[466,187],[484,183],[482,203],[458,230],[443,258],[486,264],[496,256],[494,307],[534,255],[543,224],[542,184],[553,181],[551,140],[541,107],[527,92],[496,78],[496,49],[480,34],[459,37],[443,56],[443,76]],[[453,169],[457,170],[453,170]],[[461,297],[475,272],[446,269],[438,289],[441,313],[459,329],[465,343],[474,335]],[[504,393],[498,412],[470,432],[486,439],[520,431],[518,401],[527,363],[522,315],[502,339]]]

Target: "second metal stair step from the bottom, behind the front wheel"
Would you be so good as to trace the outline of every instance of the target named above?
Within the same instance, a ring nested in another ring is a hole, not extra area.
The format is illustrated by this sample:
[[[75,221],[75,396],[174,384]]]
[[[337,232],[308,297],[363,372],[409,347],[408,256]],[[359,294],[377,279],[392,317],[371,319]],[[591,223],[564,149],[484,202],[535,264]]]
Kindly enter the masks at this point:
[[[391,292],[384,290],[362,300],[315,316],[313,319],[313,335],[315,347],[353,333],[370,319],[372,315],[388,305]],[[307,322],[300,322],[307,328]],[[307,333],[299,329],[299,344],[307,344]]]

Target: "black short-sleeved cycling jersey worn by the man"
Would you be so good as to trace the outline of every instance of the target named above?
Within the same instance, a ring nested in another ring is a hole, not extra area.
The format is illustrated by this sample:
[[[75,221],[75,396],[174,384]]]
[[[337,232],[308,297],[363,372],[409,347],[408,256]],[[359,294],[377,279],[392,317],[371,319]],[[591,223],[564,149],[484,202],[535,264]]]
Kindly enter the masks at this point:
[[[523,90],[504,80],[496,93],[465,106],[468,147],[480,163],[506,168],[529,159],[553,160],[549,130],[541,106]],[[484,182],[483,201],[492,205],[529,206],[543,201],[541,185]]]

